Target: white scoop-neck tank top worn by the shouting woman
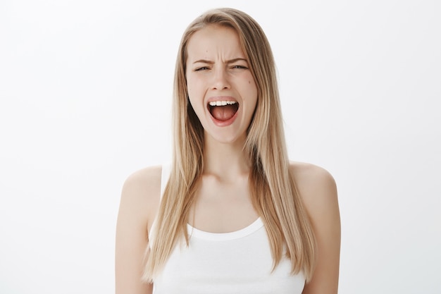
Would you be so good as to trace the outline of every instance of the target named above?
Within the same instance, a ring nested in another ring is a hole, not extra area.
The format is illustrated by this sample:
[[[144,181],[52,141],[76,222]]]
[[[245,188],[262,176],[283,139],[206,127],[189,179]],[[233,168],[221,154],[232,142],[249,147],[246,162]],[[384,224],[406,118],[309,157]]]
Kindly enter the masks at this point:
[[[161,187],[168,175],[163,172]],[[161,191],[162,195],[162,191]],[[302,293],[304,275],[291,275],[282,259],[275,271],[261,219],[232,233],[208,233],[187,225],[190,243],[175,247],[154,279],[154,294]]]

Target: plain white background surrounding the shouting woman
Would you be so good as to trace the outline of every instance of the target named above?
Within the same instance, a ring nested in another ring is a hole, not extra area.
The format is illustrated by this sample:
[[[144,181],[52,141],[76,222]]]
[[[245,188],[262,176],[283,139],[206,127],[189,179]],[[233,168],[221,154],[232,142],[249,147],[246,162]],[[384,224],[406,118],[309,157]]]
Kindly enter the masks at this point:
[[[340,293],[441,293],[440,1],[288,3],[0,1],[0,293],[113,293],[120,189],[169,159],[180,36],[219,6],[268,35],[291,158],[337,181]]]

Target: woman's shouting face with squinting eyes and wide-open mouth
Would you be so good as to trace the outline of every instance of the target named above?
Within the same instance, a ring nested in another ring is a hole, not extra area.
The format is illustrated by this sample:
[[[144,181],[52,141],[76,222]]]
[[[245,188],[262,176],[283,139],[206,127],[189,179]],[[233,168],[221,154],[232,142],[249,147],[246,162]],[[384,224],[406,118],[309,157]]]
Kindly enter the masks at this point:
[[[209,25],[187,44],[187,90],[204,135],[218,142],[245,140],[257,87],[237,32]]]

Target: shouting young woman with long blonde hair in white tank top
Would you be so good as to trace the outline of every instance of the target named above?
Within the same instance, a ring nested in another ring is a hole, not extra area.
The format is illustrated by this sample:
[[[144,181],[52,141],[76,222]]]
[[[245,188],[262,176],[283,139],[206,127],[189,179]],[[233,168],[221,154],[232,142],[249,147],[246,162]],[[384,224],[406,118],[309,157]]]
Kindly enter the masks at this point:
[[[116,293],[337,293],[335,182],[289,161],[271,48],[231,8],[185,31],[171,166],[123,187]]]

